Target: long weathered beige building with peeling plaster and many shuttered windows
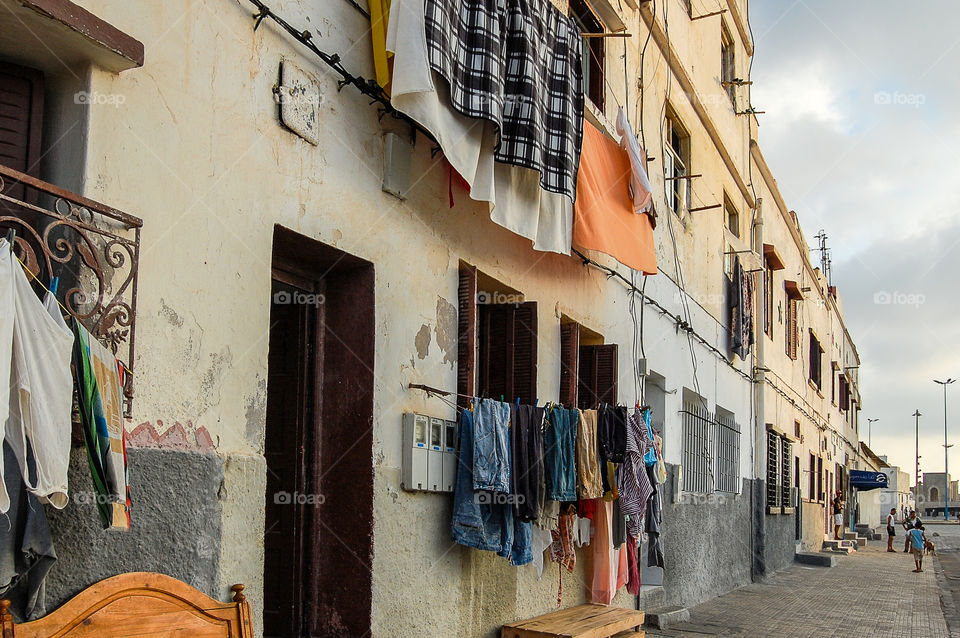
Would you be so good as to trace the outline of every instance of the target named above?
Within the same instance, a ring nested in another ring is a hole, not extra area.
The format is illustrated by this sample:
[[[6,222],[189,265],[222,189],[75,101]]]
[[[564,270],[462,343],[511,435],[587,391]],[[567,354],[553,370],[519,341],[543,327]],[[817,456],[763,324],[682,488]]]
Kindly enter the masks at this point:
[[[493,363],[468,360],[509,308],[534,339],[506,350],[526,385],[508,375],[503,394],[562,397],[576,333],[574,361],[614,355],[607,381],[580,381],[650,405],[663,437],[665,566],[614,604],[693,605],[789,565],[798,541],[818,547],[859,450],[859,356],[758,146],[746,0],[709,16],[560,3],[582,28],[630,34],[585,40],[586,118],[617,138],[622,107],[649,156],[649,277],[534,250],[429,139],[341,83],[336,69],[376,74],[366,3],[268,4],[0,0],[0,90],[18,78],[27,95],[23,161],[0,164],[43,180],[4,183],[48,212],[58,197],[94,211],[99,278],[73,283],[127,300],[99,336],[118,329],[133,370],[131,530],[100,532],[90,503],[51,512],[48,606],[145,570],[221,599],[245,583],[266,635],[494,636],[555,608],[556,568],[538,578],[452,543],[451,496],[403,485],[404,415],[457,418],[452,397],[411,384],[496,387]],[[51,254],[22,208],[0,227]],[[130,238],[126,261],[104,232]],[[82,449],[71,472],[84,489]],[[587,551],[564,606],[587,599]]]

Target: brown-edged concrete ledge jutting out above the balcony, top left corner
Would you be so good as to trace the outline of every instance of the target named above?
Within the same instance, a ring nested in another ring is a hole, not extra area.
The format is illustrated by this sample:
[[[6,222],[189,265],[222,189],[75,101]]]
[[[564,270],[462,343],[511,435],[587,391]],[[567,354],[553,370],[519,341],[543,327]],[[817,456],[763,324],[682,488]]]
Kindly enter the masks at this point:
[[[69,0],[0,0],[0,56],[49,73],[93,62],[114,73],[143,66],[143,43]]]

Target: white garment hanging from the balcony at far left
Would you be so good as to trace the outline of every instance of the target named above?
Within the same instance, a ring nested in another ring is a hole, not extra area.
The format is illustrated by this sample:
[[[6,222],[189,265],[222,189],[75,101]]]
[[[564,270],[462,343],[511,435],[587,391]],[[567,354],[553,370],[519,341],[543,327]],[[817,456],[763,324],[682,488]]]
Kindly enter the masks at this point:
[[[69,501],[73,334],[52,296],[48,294],[43,303],[37,298],[5,241],[0,245],[0,259],[10,263],[9,268],[3,267],[10,278],[0,283],[0,288],[12,289],[12,294],[0,292],[8,300],[12,296],[3,314],[13,317],[11,340],[0,343],[0,358],[10,366],[4,436],[21,469],[28,466],[27,450],[32,450],[36,473],[23,473],[27,489],[41,502],[62,509]],[[9,495],[4,489],[0,512],[8,507]]]

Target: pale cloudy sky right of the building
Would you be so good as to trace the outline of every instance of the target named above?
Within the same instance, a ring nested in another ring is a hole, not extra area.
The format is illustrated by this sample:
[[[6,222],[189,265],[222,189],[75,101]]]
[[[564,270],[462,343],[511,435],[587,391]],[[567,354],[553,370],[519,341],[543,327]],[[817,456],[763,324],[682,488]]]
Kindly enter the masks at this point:
[[[960,377],[960,3],[750,0],[760,144],[833,282],[862,359],[873,449],[943,471],[943,390]],[[815,263],[819,259],[813,255]],[[960,383],[948,389],[960,475]]]

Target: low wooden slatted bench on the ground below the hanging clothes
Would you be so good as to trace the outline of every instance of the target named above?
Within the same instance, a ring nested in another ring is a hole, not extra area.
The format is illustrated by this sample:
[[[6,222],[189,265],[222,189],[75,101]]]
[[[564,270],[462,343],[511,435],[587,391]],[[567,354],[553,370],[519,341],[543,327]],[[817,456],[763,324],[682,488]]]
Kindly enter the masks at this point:
[[[530,620],[504,625],[500,638],[643,638],[643,612],[607,605],[578,605]]]

